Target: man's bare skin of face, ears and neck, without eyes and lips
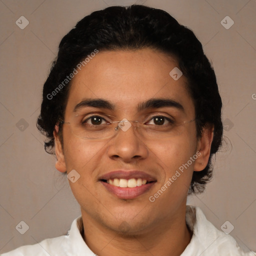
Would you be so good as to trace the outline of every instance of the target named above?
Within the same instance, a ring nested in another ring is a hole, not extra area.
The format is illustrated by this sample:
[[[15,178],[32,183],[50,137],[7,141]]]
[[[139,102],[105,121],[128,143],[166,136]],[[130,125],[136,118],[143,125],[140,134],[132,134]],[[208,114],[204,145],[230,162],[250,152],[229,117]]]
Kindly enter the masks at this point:
[[[84,98],[110,101],[113,110],[86,109],[111,114],[115,120],[137,120],[146,113],[159,112],[191,120],[195,112],[186,79],[182,75],[175,81],[169,75],[175,66],[173,57],[150,48],[99,52],[72,79],[64,120],[70,120],[74,106]],[[150,98],[175,100],[184,111],[161,107],[138,113],[137,104]],[[88,140],[75,136],[70,125],[64,124],[63,145],[57,129],[56,169],[67,173],[75,169],[80,174],[69,184],[81,207],[83,238],[90,249],[100,256],[180,255],[192,235],[185,223],[187,190],[193,171],[207,164],[213,128],[203,129],[200,138],[196,138],[195,122],[191,122],[180,135],[165,139],[141,139],[129,128],[118,130],[112,138]],[[197,151],[200,156],[150,202],[148,197]],[[102,174],[118,169],[142,170],[157,181],[134,199],[119,199],[98,180]]]

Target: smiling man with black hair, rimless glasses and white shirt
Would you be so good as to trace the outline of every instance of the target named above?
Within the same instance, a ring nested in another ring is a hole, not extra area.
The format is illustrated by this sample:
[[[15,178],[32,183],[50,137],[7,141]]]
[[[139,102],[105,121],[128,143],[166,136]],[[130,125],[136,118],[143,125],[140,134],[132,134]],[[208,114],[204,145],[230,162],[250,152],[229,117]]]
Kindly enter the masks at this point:
[[[112,6],[80,20],[59,44],[37,125],[81,217],[4,256],[254,255],[186,205],[211,177],[221,99],[200,42],[165,11]]]

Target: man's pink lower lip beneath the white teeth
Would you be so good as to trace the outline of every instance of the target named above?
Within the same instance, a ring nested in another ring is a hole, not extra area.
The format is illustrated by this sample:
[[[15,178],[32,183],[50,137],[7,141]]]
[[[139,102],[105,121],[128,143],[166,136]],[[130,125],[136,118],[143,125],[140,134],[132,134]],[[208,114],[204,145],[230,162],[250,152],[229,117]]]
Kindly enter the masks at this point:
[[[136,187],[119,187],[100,181],[105,188],[120,199],[134,199],[149,190],[155,182],[147,183]]]

